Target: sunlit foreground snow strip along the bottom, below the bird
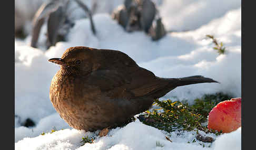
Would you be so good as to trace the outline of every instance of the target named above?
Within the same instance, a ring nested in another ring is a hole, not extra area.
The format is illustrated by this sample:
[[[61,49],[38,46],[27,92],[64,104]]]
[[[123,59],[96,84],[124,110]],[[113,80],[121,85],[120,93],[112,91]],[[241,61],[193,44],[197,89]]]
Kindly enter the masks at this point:
[[[97,131],[98,133],[99,131]],[[136,120],[123,128],[115,128],[106,136],[97,136],[93,144],[86,143],[81,146],[80,141],[84,136],[96,137],[96,132],[84,132],[75,129],[65,129],[53,133],[46,133],[34,138],[26,137],[15,143],[15,149],[239,149],[241,147],[241,127],[232,133],[226,133],[216,138],[211,145],[192,141],[195,139],[195,132],[184,132],[177,135],[171,132],[170,141],[166,140],[165,134],[152,126],[147,126]],[[214,135],[210,135],[215,137]],[[233,138],[236,137],[236,138]],[[163,147],[156,146],[159,142]],[[190,143],[188,143],[190,142]],[[201,142],[202,143],[202,142]],[[210,146],[210,147],[209,147]],[[241,148],[240,148],[241,149]]]

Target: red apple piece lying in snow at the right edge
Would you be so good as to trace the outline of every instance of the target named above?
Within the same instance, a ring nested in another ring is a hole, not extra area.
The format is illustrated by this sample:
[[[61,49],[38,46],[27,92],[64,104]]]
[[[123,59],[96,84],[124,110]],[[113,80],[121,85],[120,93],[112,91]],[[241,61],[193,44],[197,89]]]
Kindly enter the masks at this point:
[[[217,104],[209,113],[208,129],[229,133],[241,126],[241,98]]]

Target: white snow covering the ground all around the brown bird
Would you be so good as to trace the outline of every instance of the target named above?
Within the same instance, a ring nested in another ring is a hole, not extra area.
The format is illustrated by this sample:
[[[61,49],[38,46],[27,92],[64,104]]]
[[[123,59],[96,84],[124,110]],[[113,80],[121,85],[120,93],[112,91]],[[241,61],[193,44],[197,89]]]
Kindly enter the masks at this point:
[[[53,108],[48,93],[52,77],[60,67],[47,60],[61,57],[72,46],[123,51],[159,77],[202,75],[220,82],[179,87],[161,99],[187,99],[193,103],[193,99],[215,92],[241,97],[241,1],[154,2],[159,5],[165,27],[183,32],[169,33],[159,41],[152,41],[142,31],[127,33],[107,13],[117,4],[113,1],[105,10],[100,6],[99,13],[93,16],[96,36],[91,32],[89,20],[84,18],[76,20],[66,42],[57,42],[48,50],[43,46],[29,47],[31,36],[15,39],[15,149],[241,149],[241,128],[217,138],[208,134],[216,140],[204,143],[203,147],[199,141],[192,143],[194,131],[168,134],[139,120],[115,128],[105,137],[97,137],[93,144],[81,146],[82,137],[95,136],[97,132],[71,128]],[[46,39],[45,33],[44,25],[39,44]],[[207,34],[223,42],[224,55],[213,49],[212,41],[205,38]],[[22,126],[28,118],[35,122],[34,127]],[[40,135],[51,132],[53,127],[60,131]],[[167,141],[165,135],[173,142]],[[163,147],[157,147],[156,142]]]

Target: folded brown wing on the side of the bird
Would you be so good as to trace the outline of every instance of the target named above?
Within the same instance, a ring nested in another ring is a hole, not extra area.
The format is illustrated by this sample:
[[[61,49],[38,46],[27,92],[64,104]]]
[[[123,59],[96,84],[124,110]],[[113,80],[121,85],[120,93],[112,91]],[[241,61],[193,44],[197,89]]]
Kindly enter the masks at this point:
[[[130,73],[116,70],[94,71],[87,81],[88,84],[100,88],[103,92],[116,93],[120,91],[117,93],[117,97],[122,97],[122,92],[125,91],[131,94],[133,98],[149,95],[163,89],[168,84],[168,82],[156,78],[152,72],[140,67],[135,72]]]

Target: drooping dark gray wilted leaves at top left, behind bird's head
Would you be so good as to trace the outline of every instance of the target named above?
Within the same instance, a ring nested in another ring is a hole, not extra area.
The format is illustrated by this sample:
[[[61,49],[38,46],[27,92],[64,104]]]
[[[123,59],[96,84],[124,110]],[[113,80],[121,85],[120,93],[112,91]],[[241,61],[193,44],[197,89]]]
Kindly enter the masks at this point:
[[[75,0],[74,2],[83,8],[90,18],[91,28],[95,35],[96,30],[93,24],[91,10],[80,0]],[[73,20],[67,18],[67,7],[70,3],[70,0],[51,0],[41,5],[34,16],[31,47],[37,47],[40,30],[47,18],[47,47],[55,45],[57,41],[64,40],[64,36],[74,25]]]

